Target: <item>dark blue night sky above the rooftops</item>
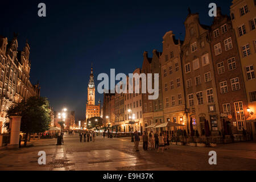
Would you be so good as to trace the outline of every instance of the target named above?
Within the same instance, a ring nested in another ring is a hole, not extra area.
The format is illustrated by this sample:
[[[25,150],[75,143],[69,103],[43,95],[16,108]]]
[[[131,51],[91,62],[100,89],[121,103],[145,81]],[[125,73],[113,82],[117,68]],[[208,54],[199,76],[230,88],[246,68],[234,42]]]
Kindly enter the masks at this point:
[[[38,4],[46,3],[47,16],[39,18]],[[54,110],[63,106],[85,119],[90,67],[99,73],[132,73],[142,67],[143,52],[162,51],[163,36],[174,31],[184,39],[188,7],[210,25],[209,3],[229,14],[225,1],[1,1],[0,35],[9,40],[18,32],[19,50],[26,39],[31,47],[31,82],[38,80],[41,96]],[[96,80],[95,79],[95,80]],[[97,88],[97,81],[96,81]],[[96,101],[103,96],[96,94]]]

